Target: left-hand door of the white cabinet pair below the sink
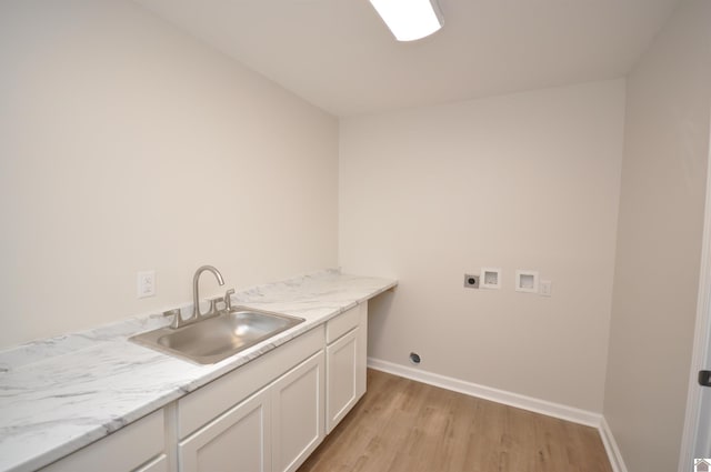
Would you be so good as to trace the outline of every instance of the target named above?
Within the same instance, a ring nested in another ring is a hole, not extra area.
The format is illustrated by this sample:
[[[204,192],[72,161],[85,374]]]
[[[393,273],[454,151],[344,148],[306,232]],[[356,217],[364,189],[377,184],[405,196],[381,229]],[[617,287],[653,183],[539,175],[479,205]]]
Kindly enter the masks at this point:
[[[182,472],[271,472],[269,390],[262,390],[178,446]]]

